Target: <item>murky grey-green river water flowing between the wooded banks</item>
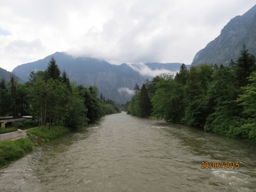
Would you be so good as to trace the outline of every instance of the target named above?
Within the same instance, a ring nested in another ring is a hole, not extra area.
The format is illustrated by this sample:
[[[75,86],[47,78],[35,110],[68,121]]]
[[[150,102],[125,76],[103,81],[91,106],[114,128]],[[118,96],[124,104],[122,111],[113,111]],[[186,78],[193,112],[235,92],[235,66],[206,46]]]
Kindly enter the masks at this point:
[[[0,191],[256,191],[255,157],[254,141],[122,112],[3,167]]]

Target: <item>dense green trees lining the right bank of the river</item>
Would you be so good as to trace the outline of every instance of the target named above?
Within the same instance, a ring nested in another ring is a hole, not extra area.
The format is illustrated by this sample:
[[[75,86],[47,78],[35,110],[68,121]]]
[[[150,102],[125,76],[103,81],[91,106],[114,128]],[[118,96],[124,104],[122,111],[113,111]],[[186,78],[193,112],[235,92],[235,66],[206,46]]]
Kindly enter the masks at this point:
[[[256,59],[243,46],[241,57],[222,64],[182,64],[170,73],[136,84],[122,107],[127,114],[161,117],[236,139],[256,140]]]

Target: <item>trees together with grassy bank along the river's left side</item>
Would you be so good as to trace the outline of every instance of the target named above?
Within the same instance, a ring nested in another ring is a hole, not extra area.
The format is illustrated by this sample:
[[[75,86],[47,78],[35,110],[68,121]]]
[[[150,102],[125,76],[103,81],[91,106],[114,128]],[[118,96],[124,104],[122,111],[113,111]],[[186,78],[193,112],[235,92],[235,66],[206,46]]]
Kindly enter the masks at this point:
[[[10,81],[0,81],[0,116],[31,115],[33,120],[14,122],[13,127],[29,130],[29,136],[0,142],[0,166],[18,159],[44,143],[93,123],[102,116],[120,113],[112,100],[98,98],[97,86],[84,87],[70,82],[65,70],[61,73],[52,57],[45,71],[31,71],[28,82],[18,83],[11,74]],[[48,123],[48,125],[46,125]],[[48,127],[48,128],[46,128]],[[14,130],[14,128],[12,128]],[[1,130],[3,133],[7,131]]]

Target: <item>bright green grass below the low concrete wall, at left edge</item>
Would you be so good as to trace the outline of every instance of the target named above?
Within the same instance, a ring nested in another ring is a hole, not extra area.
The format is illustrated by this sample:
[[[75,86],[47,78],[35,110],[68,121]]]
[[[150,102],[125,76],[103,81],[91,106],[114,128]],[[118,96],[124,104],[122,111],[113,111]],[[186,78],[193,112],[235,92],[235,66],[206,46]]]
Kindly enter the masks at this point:
[[[35,144],[28,138],[17,140],[5,140],[0,142],[0,166],[8,164],[24,156],[24,153],[30,152]]]

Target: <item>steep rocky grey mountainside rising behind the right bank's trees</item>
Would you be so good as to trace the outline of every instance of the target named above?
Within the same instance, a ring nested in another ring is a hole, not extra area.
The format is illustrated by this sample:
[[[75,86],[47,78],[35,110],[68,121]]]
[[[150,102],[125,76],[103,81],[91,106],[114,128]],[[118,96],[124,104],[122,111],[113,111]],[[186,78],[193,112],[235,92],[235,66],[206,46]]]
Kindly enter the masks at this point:
[[[196,53],[191,65],[213,63],[228,66],[240,57],[243,43],[256,56],[256,5],[242,16],[236,16],[221,30],[220,35]]]

